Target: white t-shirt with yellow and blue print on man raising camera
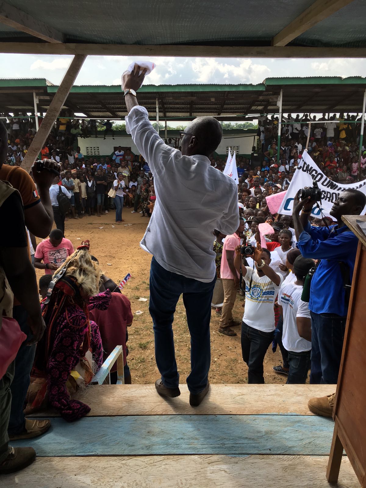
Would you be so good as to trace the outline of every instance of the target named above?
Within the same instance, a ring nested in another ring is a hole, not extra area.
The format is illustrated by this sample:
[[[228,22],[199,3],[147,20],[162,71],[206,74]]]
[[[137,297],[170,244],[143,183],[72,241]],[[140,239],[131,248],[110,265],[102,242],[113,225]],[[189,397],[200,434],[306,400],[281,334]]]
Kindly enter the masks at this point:
[[[262,332],[275,329],[274,301],[284,280],[279,273],[280,285],[275,285],[267,276],[258,276],[257,270],[245,266],[245,307],[243,322]],[[250,284],[250,279],[252,282]],[[250,289],[249,289],[249,285]]]

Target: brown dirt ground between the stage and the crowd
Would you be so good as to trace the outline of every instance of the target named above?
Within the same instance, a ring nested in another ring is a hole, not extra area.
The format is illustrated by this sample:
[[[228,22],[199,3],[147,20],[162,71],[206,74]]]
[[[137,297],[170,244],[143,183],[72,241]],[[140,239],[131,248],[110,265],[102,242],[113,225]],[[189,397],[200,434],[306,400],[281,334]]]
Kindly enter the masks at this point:
[[[115,214],[109,211],[102,217],[83,217],[81,220],[68,219],[65,222],[65,237],[76,248],[84,239],[90,240],[90,252],[96,256],[104,273],[119,283],[127,273],[132,278],[124,286],[124,294],[131,301],[134,321],[128,330],[128,364],[132,382],[137,384],[155,383],[159,372],[155,364],[154,335],[152,321],[148,311],[148,301],[139,302],[139,298],[149,298],[149,269],[151,255],[139,246],[146,229],[147,217],[139,213],[131,214],[124,208],[123,224],[115,224]],[[101,228],[102,227],[102,228]],[[39,241],[39,240],[38,240]],[[36,270],[37,277],[42,275]],[[243,297],[238,294],[233,310],[235,320],[243,316]],[[135,312],[141,310],[141,315]],[[211,318],[211,383],[246,383],[247,366],[241,356],[240,327],[235,327],[237,336],[228,337],[218,332],[219,317]],[[174,324],[175,352],[180,371],[180,382],[190,372],[190,341],[182,299],[177,305]],[[273,372],[272,366],[282,364],[282,357],[268,348],[264,360],[265,383],[285,383],[286,378]]]

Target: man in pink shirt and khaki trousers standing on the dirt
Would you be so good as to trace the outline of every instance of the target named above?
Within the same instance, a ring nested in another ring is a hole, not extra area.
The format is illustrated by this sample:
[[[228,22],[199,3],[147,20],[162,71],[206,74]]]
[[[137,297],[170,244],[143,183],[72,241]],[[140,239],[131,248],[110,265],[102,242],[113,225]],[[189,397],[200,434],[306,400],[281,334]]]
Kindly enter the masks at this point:
[[[240,245],[240,237],[244,232],[245,222],[240,219],[239,228],[231,236],[226,236],[224,241],[223,256],[221,258],[220,276],[224,287],[224,305],[221,314],[219,332],[225,335],[234,336],[236,332],[231,328],[235,323],[232,316],[232,309],[239,285],[239,273],[234,266],[235,247]]]

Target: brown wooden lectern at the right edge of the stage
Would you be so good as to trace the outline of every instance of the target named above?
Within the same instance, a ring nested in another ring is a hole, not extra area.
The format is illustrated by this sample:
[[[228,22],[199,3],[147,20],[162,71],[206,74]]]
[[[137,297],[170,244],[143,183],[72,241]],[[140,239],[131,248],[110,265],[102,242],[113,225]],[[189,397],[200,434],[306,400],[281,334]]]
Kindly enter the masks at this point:
[[[358,237],[359,244],[333,410],[335,426],[326,477],[329,483],[338,481],[345,449],[361,486],[366,488],[366,236],[357,224],[357,221],[366,222],[366,216],[343,216],[342,220]]]

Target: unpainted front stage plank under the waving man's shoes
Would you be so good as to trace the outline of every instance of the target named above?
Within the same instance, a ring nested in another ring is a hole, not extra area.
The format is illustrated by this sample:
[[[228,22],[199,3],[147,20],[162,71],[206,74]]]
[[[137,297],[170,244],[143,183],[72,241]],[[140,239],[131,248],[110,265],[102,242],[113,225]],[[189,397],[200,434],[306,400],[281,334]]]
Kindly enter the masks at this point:
[[[154,385],[89,386],[76,398],[91,407],[89,416],[114,415],[312,415],[309,398],[333,393],[336,385],[211,385],[199,407],[189,405],[187,385],[181,396],[164,399]],[[32,416],[57,417],[43,411]]]

